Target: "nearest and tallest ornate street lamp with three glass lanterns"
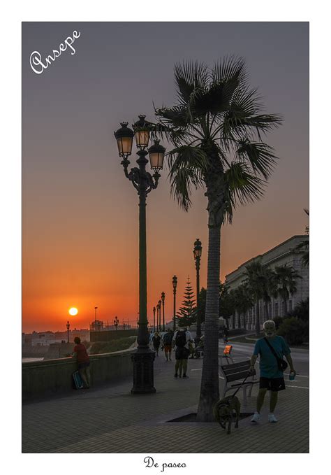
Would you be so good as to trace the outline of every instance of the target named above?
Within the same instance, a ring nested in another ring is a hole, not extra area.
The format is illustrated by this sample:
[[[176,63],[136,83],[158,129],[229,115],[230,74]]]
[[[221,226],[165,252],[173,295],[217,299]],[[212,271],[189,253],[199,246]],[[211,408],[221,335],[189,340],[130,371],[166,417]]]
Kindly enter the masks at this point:
[[[155,353],[149,348],[149,334],[147,322],[147,250],[146,250],[146,198],[158,183],[159,171],[163,168],[165,148],[155,141],[147,151],[149,143],[150,122],[145,120],[145,115],[139,115],[138,122],[129,129],[128,122],[122,122],[121,128],[115,132],[119,156],[124,174],[131,181],[139,196],[139,322],[138,322],[138,348],[132,355],[133,360],[133,388],[132,394],[155,392],[154,388],[154,359]],[[133,132],[134,131],[134,132]],[[138,148],[138,167],[128,171],[128,156],[131,155],[133,136]],[[150,166],[154,171],[153,176],[146,171],[149,155]]]

